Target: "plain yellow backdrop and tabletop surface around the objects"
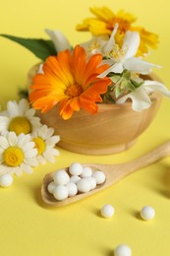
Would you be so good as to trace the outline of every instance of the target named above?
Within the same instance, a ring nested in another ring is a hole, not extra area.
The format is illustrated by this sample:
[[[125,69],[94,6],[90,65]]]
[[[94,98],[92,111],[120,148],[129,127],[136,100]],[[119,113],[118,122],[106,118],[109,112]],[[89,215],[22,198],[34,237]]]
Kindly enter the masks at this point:
[[[0,32],[23,37],[48,36],[45,28],[64,32],[72,44],[85,41],[88,32],[75,26],[90,16],[88,7],[124,9],[138,17],[137,25],[160,36],[148,60],[163,66],[156,73],[170,89],[170,3],[168,0],[1,1]],[[0,100],[17,99],[25,87],[28,69],[38,60],[24,47],[0,37]],[[161,160],[127,177],[113,187],[82,202],[56,209],[40,198],[43,176],[73,161],[118,163],[136,159],[170,138],[170,99],[164,98],[153,123],[127,152],[103,157],[83,156],[60,150],[55,164],[15,177],[9,189],[0,189],[0,255],[2,256],[111,256],[127,243],[135,256],[170,255],[170,160]],[[104,220],[99,210],[112,204],[115,216]],[[139,219],[144,205],[155,208],[151,222]]]

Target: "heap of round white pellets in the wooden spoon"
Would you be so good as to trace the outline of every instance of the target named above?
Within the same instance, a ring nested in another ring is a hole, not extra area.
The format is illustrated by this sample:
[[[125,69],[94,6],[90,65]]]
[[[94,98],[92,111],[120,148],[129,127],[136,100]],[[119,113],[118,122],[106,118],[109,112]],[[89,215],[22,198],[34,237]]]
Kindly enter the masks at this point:
[[[104,183],[105,179],[105,174],[101,170],[92,171],[89,166],[73,162],[68,172],[66,169],[54,172],[53,181],[48,184],[47,189],[57,201],[62,201],[78,193],[89,192],[97,185]]]

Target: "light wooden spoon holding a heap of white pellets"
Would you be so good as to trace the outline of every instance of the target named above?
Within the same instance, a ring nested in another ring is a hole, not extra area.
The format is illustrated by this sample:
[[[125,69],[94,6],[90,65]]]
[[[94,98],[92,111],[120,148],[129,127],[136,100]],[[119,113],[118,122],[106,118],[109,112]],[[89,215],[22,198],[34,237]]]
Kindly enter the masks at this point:
[[[79,200],[84,199],[85,197],[88,197],[96,192],[101,191],[102,189],[105,189],[117,181],[123,179],[127,175],[135,172],[136,170],[143,168],[157,160],[161,160],[162,158],[165,158],[170,155],[170,141],[164,143],[163,145],[157,147],[153,151],[145,154],[139,159],[132,160],[125,163],[119,163],[119,164],[98,164],[98,163],[85,163],[83,166],[90,166],[92,170],[101,170],[105,173],[106,179],[105,182],[101,185],[97,185],[95,189],[86,192],[86,193],[80,193],[77,194],[74,197],[69,197],[63,201],[57,201],[52,194],[50,194],[47,190],[48,184],[53,180],[53,172],[50,172],[45,175],[42,186],[41,186],[41,196],[45,203],[61,207],[64,205],[68,205],[74,202],[77,202]],[[69,167],[66,167],[65,170],[68,172]]]

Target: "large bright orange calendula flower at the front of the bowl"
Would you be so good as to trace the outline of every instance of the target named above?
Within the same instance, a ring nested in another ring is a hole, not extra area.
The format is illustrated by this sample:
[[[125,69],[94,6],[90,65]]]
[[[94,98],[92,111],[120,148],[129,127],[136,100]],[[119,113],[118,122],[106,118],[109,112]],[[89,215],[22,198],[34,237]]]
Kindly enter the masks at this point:
[[[97,76],[109,65],[101,65],[102,55],[92,55],[86,60],[85,49],[77,45],[73,51],[60,51],[50,56],[43,64],[43,74],[36,74],[30,86],[29,100],[35,109],[44,113],[59,103],[59,111],[64,119],[69,119],[74,111],[84,108],[89,113],[97,112],[96,102],[107,92],[111,80]]]

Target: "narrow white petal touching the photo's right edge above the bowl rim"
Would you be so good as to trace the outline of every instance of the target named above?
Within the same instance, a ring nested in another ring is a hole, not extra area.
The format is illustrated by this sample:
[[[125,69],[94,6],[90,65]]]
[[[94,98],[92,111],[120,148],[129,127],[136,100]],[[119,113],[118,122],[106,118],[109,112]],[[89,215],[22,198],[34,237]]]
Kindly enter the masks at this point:
[[[152,92],[161,93],[163,96],[170,96],[170,91],[160,82],[145,80],[143,86],[145,89],[150,89]]]

